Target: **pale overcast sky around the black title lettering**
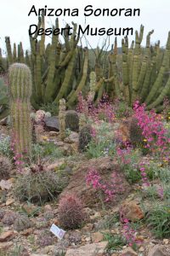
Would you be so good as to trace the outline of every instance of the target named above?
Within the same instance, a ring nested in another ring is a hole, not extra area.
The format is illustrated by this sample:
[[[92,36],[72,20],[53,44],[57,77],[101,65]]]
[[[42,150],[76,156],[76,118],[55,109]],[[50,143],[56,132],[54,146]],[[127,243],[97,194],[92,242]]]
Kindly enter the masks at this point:
[[[94,9],[136,9],[141,10],[139,17],[87,17],[86,23],[90,26],[98,27],[133,27],[139,29],[140,24],[144,25],[144,42],[145,35],[150,30],[154,29],[151,42],[155,43],[158,39],[161,40],[161,45],[164,46],[167,42],[167,34],[170,31],[170,0],[2,0],[0,5],[0,47],[5,49],[4,37],[10,36],[12,43],[20,43],[22,41],[24,48],[29,48],[28,28],[31,24],[37,24],[37,17],[28,13],[31,6],[35,4],[36,8],[44,8],[45,4],[48,8],[54,9],[79,9],[79,17],[59,17],[60,26],[64,26],[65,22],[71,20],[83,25],[85,19],[83,16],[83,9],[88,4],[93,5]],[[51,26],[54,19],[46,20],[47,26]],[[104,38],[100,37],[100,42]],[[118,42],[120,43],[121,38]],[[132,38],[131,38],[132,39]],[[88,41],[95,47],[99,38],[89,37]],[[114,37],[111,37],[111,42]],[[119,44],[120,45],[120,44]]]

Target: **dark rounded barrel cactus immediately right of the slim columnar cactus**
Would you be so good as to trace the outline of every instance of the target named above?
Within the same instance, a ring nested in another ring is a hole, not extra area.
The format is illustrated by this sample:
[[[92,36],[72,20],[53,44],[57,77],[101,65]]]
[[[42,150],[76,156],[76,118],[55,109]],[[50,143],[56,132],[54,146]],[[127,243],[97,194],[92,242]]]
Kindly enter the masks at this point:
[[[65,128],[71,131],[79,130],[79,117],[75,110],[68,110],[65,113]]]

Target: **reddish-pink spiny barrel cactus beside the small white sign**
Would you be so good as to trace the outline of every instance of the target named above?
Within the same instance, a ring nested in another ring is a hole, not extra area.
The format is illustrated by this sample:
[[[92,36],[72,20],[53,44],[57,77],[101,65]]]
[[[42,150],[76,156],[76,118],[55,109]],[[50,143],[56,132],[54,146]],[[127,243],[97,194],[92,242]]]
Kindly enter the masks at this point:
[[[64,229],[77,229],[85,220],[82,201],[77,195],[65,195],[59,201],[59,224]]]

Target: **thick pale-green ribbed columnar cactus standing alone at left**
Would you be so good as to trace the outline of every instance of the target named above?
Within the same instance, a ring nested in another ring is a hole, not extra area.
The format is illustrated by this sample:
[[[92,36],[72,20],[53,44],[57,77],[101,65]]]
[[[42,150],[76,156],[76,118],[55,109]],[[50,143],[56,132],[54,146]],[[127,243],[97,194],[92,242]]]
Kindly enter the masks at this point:
[[[11,65],[9,67],[10,112],[14,153],[18,158],[31,157],[31,87],[30,68],[21,63]]]

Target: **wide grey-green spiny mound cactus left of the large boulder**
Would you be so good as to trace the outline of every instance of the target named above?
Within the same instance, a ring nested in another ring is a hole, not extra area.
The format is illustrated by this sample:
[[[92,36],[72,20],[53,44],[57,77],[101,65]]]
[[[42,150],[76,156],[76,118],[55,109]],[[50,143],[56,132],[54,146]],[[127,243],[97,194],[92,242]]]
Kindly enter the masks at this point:
[[[43,166],[31,168],[20,175],[14,184],[14,195],[20,201],[42,203],[53,200],[68,184],[69,177],[64,172],[43,170]]]

